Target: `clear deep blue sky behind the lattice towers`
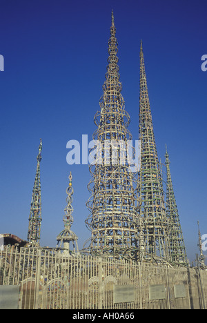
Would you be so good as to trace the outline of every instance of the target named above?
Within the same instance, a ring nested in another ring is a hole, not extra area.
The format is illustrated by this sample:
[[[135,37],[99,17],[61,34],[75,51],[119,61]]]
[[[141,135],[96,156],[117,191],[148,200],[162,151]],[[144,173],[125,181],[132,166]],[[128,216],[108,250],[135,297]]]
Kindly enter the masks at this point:
[[[70,170],[79,248],[90,237],[84,223],[90,173],[87,165],[66,163],[66,143],[81,141],[82,134],[91,138],[96,129],[113,9],[129,130],[138,139],[142,39],[157,150],[164,161],[168,145],[181,227],[194,260],[197,219],[201,234],[207,233],[206,0],[1,0],[0,8],[0,232],[27,237],[41,137],[41,246],[56,246],[63,228]]]

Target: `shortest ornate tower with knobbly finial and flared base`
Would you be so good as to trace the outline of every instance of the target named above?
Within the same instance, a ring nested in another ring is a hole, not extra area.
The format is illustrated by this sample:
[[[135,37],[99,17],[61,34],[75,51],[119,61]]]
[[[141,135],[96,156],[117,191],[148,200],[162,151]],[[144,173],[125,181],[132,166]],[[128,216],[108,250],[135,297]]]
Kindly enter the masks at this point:
[[[72,243],[72,247],[73,247],[73,252],[75,253],[75,251],[79,251],[78,248],[78,244],[77,244],[77,235],[71,231],[71,226],[73,223],[73,217],[72,217],[72,212],[73,212],[73,208],[72,208],[72,195],[74,193],[73,188],[72,188],[72,175],[70,172],[69,175],[69,186],[66,190],[67,193],[67,206],[65,208],[65,215],[63,216],[63,223],[64,223],[64,229],[63,231],[61,231],[61,233],[59,233],[59,235],[57,236],[57,247],[59,246],[60,243],[60,248],[61,245],[63,244],[63,256],[69,256],[70,255],[70,242]]]

